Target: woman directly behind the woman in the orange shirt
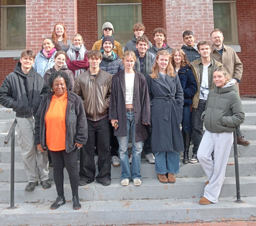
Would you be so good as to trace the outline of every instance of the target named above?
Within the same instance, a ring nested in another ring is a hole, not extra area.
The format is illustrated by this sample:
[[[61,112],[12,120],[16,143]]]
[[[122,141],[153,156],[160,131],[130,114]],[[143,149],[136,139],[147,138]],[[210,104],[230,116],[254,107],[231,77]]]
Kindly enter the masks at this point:
[[[64,71],[69,77],[68,90],[73,91],[73,87],[74,87],[74,83],[75,83],[75,75],[65,65],[66,58],[67,58],[67,55],[66,55],[65,51],[58,51],[54,57],[55,65],[46,71],[43,78],[46,81],[47,85],[49,86],[48,80],[49,80],[51,73],[53,73],[54,71]]]

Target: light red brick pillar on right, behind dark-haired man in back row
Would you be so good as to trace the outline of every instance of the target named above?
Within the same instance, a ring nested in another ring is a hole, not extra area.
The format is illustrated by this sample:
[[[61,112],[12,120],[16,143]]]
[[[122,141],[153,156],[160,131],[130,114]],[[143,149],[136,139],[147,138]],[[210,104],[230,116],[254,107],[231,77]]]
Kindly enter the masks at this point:
[[[181,47],[184,44],[182,33],[186,30],[194,32],[197,42],[210,39],[209,34],[214,29],[212,0],[164,0],[163,10],[169,46]]]

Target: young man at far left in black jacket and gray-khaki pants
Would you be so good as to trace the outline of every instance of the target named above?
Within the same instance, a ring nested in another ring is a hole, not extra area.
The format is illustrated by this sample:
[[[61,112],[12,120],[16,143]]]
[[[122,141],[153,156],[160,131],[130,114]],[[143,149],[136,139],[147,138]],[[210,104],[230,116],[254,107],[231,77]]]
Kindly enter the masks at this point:
[[[5,108],[13,108],[16,112],[17,139],[29,182],[25,191],[33,191],[38,180],[43,188],[51,187],[48,178],[48,152],[39,151],[34,144],[34,117],[42,97],[49,91],[42,76],[32,67],[35,56],[33,51],[23,50],[20,62],[0,87],[0,104]]]

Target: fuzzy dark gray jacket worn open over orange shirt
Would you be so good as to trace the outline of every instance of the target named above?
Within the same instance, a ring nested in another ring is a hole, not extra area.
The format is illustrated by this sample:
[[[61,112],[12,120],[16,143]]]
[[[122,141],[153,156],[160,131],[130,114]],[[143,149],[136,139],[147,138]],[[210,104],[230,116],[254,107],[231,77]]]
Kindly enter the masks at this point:
[[[84,106],[81,98],[67,90],[68,103],[66,108],[66,152],[69,153],[76,149],[75,142],[79,144],[86,144],[87,120],[84,112]],[[46,130],[45,130],[45,115],[49,109],[53,92],[49,91],[42,99],[35,117],[35,142],[34,144],[41,144],[42,148],[46,147]],[[56,128],[57,129],[57,128]]]

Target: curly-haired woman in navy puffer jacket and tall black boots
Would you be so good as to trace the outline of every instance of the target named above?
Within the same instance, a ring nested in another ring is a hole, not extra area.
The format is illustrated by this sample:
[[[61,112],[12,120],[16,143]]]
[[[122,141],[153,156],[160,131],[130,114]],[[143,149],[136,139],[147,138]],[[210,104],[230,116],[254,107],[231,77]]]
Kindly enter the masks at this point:
[[[184,143],[183,163],[187,164],[189,162],[188,151],[190,145],[190,104],[192,104],[192,97],[197,91],[197,84],[190,64],[182,49],[176,48],[172,51],[171,64],[178,73],[179,81],[181,82],[181,87],[183,89],[184,104],[181,121],[181,134]]]

